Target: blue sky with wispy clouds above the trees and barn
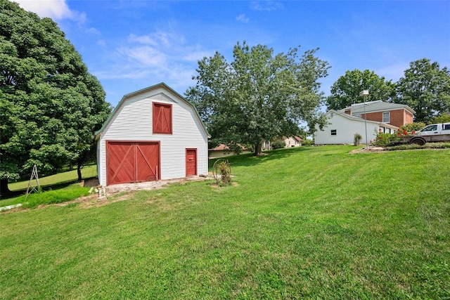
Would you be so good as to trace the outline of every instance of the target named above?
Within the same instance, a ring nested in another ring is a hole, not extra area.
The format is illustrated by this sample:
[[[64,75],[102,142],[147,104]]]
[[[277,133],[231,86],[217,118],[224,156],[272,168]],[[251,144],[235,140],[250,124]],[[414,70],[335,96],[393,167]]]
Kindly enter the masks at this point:
[[[198,60],[231,62],[237,41],[320,48],[326,95],[347,70],[397,81],[420,58],[450,67],[450,1],[15,1],[58,23],[113,106],[162,81],[183,95]]]

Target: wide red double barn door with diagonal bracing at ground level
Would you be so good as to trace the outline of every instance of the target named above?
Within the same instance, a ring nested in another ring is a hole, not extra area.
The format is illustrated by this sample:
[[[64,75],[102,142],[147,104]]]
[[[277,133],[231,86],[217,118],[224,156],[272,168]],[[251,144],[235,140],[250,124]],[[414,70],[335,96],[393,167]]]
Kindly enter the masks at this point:
[[[160,178],[159,142],[108,142],[106,153],[108,185]]]

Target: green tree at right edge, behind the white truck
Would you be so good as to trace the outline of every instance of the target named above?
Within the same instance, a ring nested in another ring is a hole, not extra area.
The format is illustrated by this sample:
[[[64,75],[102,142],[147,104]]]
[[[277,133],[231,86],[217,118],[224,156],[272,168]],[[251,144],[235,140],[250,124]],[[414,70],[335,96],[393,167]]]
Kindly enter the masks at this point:
[[[450,114],[450,71],[428,58],[413,61],[396,85],[396,103],[416,110],[415,122],[428,123],[442,114]]]

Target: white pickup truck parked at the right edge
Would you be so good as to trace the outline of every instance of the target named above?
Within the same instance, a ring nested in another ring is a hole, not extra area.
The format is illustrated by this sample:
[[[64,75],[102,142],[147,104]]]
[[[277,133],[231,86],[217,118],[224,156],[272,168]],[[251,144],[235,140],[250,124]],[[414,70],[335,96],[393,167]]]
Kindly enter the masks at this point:
[[[417,145],[435,142],[450,142],[450,123],[428,125],[417,131],[416,135],[404,137],[403,142]]]

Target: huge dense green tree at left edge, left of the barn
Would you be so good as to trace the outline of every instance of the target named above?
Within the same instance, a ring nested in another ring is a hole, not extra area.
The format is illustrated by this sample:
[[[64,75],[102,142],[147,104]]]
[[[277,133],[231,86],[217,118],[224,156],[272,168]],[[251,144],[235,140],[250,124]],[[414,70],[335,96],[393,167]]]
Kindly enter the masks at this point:
[[[0,193],[33,164],[49,174],[94,147],[105,92],[50,18],[0,0]]]

